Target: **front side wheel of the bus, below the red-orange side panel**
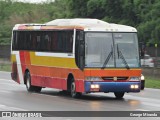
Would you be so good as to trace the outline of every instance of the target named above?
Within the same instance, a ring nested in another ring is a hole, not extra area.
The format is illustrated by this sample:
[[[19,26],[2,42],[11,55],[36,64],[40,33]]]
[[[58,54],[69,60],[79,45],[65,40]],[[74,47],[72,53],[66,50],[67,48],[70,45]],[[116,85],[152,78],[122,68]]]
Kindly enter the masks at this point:
[[[73,98],[78,98],[81,96],[81,93],[76,92],[76,84],[75,84],[74,80],[72,80],[72,83],[71,83],[71,96]]]

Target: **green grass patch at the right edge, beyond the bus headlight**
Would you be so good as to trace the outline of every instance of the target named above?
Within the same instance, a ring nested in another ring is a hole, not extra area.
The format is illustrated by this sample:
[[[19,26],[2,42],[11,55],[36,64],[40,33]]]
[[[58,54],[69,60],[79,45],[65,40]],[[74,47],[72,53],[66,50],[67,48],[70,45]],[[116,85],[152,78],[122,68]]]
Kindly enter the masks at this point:
[[[146,76],[145,77],[145,87],[160,89],[160,78]]]

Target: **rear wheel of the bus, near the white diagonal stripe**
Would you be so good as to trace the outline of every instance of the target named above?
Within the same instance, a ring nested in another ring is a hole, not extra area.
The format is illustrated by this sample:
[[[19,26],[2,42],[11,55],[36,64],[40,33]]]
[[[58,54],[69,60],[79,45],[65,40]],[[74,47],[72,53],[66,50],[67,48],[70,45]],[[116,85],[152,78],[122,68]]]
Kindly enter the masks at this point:
[[[26,80],[26,88],[28,92],[40,92],[41,91],[42,87],[31,85],[31,76],[29,72],[26,73],[25,80]]]

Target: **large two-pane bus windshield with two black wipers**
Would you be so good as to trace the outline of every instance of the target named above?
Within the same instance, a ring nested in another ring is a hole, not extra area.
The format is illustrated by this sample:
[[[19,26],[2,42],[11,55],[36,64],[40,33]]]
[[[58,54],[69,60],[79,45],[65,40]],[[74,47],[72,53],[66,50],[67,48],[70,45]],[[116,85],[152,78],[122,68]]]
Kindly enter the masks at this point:
[[[140,67],[136,33],[85,34],[85,67]]]

